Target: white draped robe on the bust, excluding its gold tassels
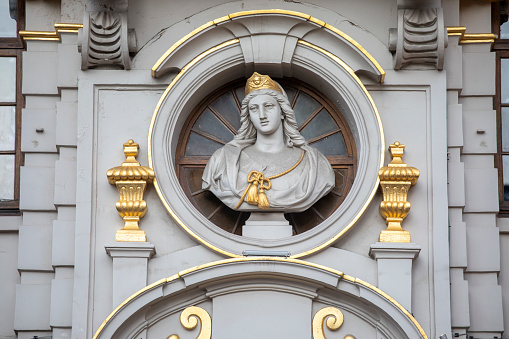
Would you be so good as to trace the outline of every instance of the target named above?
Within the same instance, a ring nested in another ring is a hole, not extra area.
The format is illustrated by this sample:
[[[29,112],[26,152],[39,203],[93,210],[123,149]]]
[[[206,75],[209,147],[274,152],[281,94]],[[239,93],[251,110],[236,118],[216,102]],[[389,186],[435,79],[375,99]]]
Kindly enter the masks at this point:
[[[242,150],[250,145],[228,143],[210,157],[203,172],[202,188],[208,189],[224,204],[234,208],[248,186],[249,172],[263,172],[265,166],[254,161]],[[244,201],[239,211],[248,212],[301,212],[329,193],[335,185],[334,171],[328,160],[316,148],[302,146],[305,151],[302,162],[289,173],[271,180],[271,189],[265,194],[269,210],[258,208]]]

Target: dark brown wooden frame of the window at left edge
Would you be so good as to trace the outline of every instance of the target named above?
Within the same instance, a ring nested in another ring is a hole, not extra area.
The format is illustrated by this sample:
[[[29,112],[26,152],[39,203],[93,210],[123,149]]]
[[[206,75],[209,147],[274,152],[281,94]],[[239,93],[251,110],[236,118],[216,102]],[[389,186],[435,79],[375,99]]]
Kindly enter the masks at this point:
[[[17,37],[0,37],[0,57],[16,58],[16,101],[0,102],[0,106],[15,106],[15,139],[14,151],[0,151],[0,154],[14,155],[14,199],[0,201],[0,215],[18,215],[19,212],[19,169],[23,165],[23,154],[21,153],[21,110],[25,106],[22,94],[22,54],[24,51],[23,40],[19,31],[25,29],[25,2],[18,1],[17,9]]]

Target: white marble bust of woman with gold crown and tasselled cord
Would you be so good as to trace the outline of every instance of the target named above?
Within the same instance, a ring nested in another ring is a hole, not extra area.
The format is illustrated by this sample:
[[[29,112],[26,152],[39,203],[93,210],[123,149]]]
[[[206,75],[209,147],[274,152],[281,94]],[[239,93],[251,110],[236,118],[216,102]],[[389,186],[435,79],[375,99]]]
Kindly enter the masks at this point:
[[[300,135],[285,91],[270,77],[255,72],[248,79],[240,122],[202,177],[202,187],[228,207],[301,212],[332,190],[332,167]]]

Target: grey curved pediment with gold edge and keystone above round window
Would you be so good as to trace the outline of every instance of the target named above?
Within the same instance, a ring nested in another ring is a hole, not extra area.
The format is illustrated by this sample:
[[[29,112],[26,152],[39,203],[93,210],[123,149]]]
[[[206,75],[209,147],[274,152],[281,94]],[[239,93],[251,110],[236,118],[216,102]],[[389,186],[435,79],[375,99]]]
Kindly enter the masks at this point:
[[[233,13],[200,26],[166,51],[152,67],[152,76],[178,73],[197,55],[234,39],[239,42],[246,75],[257,69],[291,77],[297,44],[305,42],[340,55],[358,75],[384,80],[378,62],[350,36],[310,15],[278,9]]]

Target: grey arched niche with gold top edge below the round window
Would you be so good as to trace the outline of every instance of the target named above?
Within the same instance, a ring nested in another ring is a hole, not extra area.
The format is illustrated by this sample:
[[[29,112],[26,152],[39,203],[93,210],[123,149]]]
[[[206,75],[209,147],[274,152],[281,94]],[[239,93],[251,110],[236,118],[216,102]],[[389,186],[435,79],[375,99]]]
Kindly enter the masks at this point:
[[[180,324],[190,306],[210,315],[213,338],[308,339],[313,316],[325,307],[344,316],[337,332],[326,332],[334,337],[427,338],[408,311],[362,280],[306,261],[257,257],[212,262],[147,286],[114,310],[93,339],[196,338]]]

